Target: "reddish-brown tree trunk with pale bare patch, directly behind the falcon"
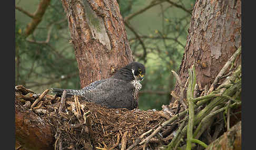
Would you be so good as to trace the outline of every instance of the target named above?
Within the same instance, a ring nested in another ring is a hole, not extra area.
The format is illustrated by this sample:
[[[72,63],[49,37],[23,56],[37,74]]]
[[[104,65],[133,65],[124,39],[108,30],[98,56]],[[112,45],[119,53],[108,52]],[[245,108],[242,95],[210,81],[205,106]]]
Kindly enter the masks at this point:
[[[133,61],[116,0],[62,0],[80,71],[81,88],[109,78]]]

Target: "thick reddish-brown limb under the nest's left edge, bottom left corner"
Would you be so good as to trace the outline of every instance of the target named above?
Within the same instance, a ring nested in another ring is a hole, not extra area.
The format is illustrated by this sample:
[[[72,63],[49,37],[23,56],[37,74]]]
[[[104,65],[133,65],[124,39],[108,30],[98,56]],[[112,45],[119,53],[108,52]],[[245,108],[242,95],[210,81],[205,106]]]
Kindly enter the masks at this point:
[[[54,149],[51,125],[32,111],[15,105],[15,138],[26,149]]]

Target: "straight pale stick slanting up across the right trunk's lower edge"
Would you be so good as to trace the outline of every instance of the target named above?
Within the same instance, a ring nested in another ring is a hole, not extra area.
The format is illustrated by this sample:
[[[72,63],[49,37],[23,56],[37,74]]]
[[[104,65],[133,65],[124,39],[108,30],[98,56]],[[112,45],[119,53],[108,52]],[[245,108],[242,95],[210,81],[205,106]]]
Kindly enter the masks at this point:
[[[235,58],[237,58],[237,56],[240,54],[240,52],[241,52],[241,47],[237,51],[235,51],[234,54],[230,57],[230,59],[225,63],[223,68],[220,70],[220,72],[218,73],[218,75],[216,76],[214,81],[212,82],[211,87],[210,87],[209,91],[207,92],[207,94],[209,94],[213,91],[213,89],[214,89],[215,85],[217,84],[217,82],[219,81],[219,79],[223,76],[225,71],[228,70],[229,66],[235,60]]]

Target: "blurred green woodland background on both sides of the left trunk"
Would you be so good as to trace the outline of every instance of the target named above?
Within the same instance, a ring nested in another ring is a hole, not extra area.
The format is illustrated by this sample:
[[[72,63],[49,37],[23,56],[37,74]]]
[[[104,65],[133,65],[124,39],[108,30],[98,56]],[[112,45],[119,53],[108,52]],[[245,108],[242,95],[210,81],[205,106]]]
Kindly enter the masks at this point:
[[[186,45],[195,0],[117,1],[135,61],[146,67],[139,109],[169,104]],[[51,1],[33,34],[25,28],[40,1],[15,0],[15,85],[36,93],[80,89],[77,62],[61,1]],[[50,93],[49,93],[50,94]]]

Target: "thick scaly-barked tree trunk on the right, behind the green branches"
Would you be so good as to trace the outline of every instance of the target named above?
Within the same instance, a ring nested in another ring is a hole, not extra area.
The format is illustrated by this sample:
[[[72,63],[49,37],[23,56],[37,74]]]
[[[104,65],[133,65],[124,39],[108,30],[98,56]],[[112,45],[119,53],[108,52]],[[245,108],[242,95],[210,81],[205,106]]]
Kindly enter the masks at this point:
[[[195,64],[199,90],[211,83],[225,62],[241,46],[241,0],[198,0],[192,12],[179,76],[185,85]],[[236,63],[241,62],[241,56]],[[234,65],[236,65],[236,63]],[[176,93],[180,93],[176,83]]]

